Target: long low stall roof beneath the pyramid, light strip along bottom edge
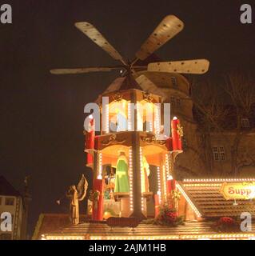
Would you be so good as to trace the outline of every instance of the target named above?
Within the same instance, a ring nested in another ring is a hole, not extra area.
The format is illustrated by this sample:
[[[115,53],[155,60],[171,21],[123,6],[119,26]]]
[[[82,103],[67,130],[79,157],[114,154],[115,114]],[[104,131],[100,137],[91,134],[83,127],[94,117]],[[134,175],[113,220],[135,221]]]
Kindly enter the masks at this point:
[[[118,239],[243,239],[255,236],[255,224],[251,232],[217,233],[211,222],[185,222],[185,226],[169,227],[140,224],[133,230],[129,227],[110,228],[106,222],[83,222],[70,225],[66,214],[42,214],[34,239],[68,240],[118,240]]]

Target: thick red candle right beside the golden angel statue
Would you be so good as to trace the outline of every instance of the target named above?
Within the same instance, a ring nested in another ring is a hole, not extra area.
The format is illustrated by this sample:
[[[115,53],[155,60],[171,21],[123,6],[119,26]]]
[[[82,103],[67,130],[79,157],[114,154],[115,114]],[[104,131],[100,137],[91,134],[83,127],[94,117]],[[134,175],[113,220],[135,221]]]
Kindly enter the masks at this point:
[[[103,180],[95,179],[94,180],[94,192],[98,192],[98,198],[95,198],[92,208],[92,218],[95,221],[102,221],[103,218],[103,204],[104,204],[104,195],[103,195]]]

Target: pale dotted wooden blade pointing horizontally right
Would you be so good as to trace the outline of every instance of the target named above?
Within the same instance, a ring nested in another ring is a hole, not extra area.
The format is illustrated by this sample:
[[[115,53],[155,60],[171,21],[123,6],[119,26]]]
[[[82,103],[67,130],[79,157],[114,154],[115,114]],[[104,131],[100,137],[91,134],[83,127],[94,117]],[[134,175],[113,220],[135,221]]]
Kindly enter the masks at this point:
[[[181,74],[205,74],[209,69],[207,59],[193,59],[179,62],[155,62],[149,63],[148,71],[169,72]]]

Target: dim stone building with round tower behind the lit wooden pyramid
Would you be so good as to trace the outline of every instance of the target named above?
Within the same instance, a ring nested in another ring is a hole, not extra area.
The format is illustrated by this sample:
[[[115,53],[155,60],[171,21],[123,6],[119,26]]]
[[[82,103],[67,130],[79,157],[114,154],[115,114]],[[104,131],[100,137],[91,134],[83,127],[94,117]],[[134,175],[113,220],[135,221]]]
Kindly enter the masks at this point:
[[[174,173],[178,180],[196,177],[243,177],[255,173],[255,114],[241,117],[241,133],[237,135],[235,114],[226,117],[226,129],[212,130],[207,136],[209,145],[205,146],[205,134],[197,117],[196,106],[188,79],[181,74],[143,72],[165,93],[165,102],[171,103],[171,114],[177,116],[183,126],[182,150],[174,163]],[[229,106],[226,106],[228,108]],[[229,111],[231,113],[231,111]],[[233,144],[237,136],[236,172],[233,172]],[[207,156],[207,158],[206,158]],[[208,157],[209,156],[209,157]]]

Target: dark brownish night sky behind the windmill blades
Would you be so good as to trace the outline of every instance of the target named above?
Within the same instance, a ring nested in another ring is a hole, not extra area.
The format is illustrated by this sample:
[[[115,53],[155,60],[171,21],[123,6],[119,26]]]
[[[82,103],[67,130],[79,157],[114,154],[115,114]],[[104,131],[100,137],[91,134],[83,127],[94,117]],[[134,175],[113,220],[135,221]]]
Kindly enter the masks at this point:
[[[52,68],[114,65],[74,27],[90,22],[126,58],[167,14],[185,29],[157,51],[163,60],[208,58],[209,76],[253,72],[255,19],[240,22],[240,6],[254,0],[213,1],[0,1],[13,8],[13,24],[0,24],[0,174],[17,189],[31,176],[30,234],[40,213],[65,212],[55,201],[86,169],[83,108],[118,73],[54,76]]]

